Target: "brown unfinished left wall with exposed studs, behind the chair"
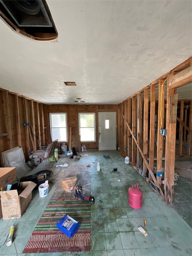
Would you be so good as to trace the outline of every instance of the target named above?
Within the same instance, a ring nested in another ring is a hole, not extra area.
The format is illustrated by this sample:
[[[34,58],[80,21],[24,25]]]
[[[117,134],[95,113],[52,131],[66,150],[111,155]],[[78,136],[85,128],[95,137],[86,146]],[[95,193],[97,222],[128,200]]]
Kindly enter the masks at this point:
[[[39,145],[47,145],[45,107],[22,95],[0,89],[0,152],[20,146],[27,161],[30,151],[38,150]],[[24,123],[29,123],[29,126],[24,126]]]

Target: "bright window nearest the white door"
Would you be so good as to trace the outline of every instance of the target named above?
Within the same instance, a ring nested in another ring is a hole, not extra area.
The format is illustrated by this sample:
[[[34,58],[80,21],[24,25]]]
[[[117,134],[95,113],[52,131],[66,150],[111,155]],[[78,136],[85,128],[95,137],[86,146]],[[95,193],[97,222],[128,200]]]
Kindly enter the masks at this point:
[[[95,113],[79,113],[79,135],[81,141],[96,141]]]

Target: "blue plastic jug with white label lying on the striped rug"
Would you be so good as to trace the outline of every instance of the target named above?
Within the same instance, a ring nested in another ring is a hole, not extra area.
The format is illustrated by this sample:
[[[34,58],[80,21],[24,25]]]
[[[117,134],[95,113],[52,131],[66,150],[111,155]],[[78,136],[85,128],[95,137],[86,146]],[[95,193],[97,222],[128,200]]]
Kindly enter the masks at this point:
[[[56,226],[59,230],[71,238],[79,229],[79,222],[71,218],[69,215],[65,215],[59,222],[56,223]]]

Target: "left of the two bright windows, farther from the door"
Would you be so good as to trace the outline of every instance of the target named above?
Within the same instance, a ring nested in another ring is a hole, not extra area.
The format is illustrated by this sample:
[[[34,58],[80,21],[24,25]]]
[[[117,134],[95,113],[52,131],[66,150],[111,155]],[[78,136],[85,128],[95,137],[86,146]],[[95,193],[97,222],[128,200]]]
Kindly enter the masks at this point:
[[[49,120],[52,141],[67,142],[67,113],[49,113]]]

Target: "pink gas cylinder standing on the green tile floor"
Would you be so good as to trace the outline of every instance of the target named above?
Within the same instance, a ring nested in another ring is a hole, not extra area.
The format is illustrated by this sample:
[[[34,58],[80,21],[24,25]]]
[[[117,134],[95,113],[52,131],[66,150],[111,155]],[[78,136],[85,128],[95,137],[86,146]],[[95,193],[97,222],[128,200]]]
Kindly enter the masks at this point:
[[[128,203],[134,209],[140,209],[143,202],[143,192],[140,190],[140,184],[137,187],[131,182],[131,187],[128,189]]]

